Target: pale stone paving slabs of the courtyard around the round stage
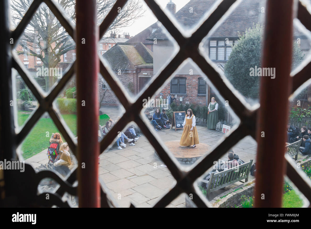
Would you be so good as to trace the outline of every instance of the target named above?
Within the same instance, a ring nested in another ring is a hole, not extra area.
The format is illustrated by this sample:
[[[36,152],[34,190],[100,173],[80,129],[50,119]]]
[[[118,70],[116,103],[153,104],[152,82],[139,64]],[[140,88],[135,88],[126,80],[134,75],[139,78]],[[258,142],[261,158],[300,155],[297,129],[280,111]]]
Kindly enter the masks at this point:
[[[118,107],[105,107],[103,111],[114,120],[117,116],[121,116]],[[204,126],[197,126],[197,131],[200,143],[206,143],[212,148],[225,135]],[[130,203],[133,203],[136,207],[151,207],[176,184],[169,169],[163,166],[163,162],[154,156],[154,148],[148,139],[142,133],[140,134],[142,136],[135,146],[129,146],[126,141],[126,148],[119,150],[113,147],[112,150],[105,150],[100,155],[98,175],[111,190],[111,194],[121,207],[129,207]],[[182,129],[177,131],[164,129],[156,132],[156,134],[160,136],[163,142],[180,140]],[[234,153],[239,155],[240,159],[245,162],[250,159],[255,162],[256,149],[257,143],[250,136],[243,138],[233,147]],[[226,154],[220,159],[228,160]],[[46,150],[26,161],[34,167],[47,163]],[[249,175],[249,180],[253,178]],[[219,189],[212,192],[210,199],[239,184],[241,183],[237,182],[227,186],[225,190]],[[179,195],[167,207],[185,207],[185,194]]]

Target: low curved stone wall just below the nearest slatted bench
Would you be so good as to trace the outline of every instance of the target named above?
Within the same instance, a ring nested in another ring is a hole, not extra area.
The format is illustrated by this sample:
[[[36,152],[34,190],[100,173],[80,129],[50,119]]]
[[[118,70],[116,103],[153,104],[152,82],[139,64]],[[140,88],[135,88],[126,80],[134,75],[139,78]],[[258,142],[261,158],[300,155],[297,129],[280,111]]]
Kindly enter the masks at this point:
[[[224,193],[216,196],[214,199],[210,201],[210,203],[212,204],[213,208],[227,208],[234,205],[239,206],[241,203],[240,199],[241,196],[242,195],[253,196],[254,189],[255,189],[255,179],[249,180],[246,183],[233,187],[232,189],[229,189],[228,191],[225,191]]]

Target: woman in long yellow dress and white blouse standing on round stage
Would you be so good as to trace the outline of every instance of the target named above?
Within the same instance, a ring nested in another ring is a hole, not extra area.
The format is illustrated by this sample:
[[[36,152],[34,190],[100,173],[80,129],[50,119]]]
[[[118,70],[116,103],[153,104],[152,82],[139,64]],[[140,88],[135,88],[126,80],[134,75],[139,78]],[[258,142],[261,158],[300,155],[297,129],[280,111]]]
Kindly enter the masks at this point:
[[[197,133],[197,128],[195,126],[195,116],[191,109],[187,110],[187,115],[183,122],[183,135],[180,139],[180,145],[196,147],[199,144],[199,135]]]

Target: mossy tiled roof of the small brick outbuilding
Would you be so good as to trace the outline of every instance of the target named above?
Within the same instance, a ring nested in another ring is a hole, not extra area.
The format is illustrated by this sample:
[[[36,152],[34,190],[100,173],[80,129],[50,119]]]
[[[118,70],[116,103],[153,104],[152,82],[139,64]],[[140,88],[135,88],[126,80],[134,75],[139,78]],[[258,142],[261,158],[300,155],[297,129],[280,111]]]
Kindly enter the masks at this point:
[[[119,68],[135,70],[137,65],[153,64],[153,53],[141,42],[117,43],[103,54],[103,58],[114,71]]]

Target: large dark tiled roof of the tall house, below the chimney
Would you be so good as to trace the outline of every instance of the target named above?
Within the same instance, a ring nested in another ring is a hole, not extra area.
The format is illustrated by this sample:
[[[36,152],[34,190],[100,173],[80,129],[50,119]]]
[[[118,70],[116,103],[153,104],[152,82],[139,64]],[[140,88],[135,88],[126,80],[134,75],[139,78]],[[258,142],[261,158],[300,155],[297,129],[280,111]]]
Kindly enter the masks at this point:
[[[215,2],[216,0],[190,0],[174,16],[183,28],[191,29],[213,7]],[[239,33],[244,33],[246,29],[253,27],[253,24],[263,21],[264,15],[261,13],[261,7],[264,3],[265,0],[243,0],[209,37],[238,37]],[[193,7],[192,13],[189,12],[190,7]],[[294,35],[303,34],[294,29]],[[168,39],[160,28],[147,39],[153,40],[154,38]]]

